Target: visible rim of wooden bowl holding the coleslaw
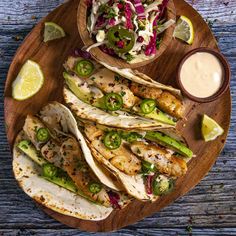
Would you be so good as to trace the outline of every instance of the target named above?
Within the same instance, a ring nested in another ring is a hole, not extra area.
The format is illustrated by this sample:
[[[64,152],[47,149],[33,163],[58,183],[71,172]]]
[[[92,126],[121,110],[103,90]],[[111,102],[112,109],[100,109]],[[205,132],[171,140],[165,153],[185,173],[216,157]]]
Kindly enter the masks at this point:
[[[87,0],[80,0],[78,11],[77,11],[77,25],[78,25],[80,37],[86,47],[95,43],[95,41],[90,38],[89,32],[87,30],[87,10],[88,10]],[[170,19],[176,20],[175,5],[174,5],[173,0],[169,1],[167,8],[165,10],[164,18],[166,20],[170,20]],[[104,53],[99,47],[92,48],[90,50],[90,53],[95,60],[103,61],[111,66],[116,66],[119,68],[137,68],[137,67],[149,64],[150,62],[156,60],[166,50],[167,46],[169,45],[169,43],[171,42],[173,38],[174,29],[175,29],[175,25],[172,25],[171,27],[169,27],[167,30],[165,30],[162,33],[162,42],[161,42],[160,48],[157,50],[156,55],[150,60],[145,60],[139,63],[129,64],[120,58],[116,58],[116,57],[113,57]]]

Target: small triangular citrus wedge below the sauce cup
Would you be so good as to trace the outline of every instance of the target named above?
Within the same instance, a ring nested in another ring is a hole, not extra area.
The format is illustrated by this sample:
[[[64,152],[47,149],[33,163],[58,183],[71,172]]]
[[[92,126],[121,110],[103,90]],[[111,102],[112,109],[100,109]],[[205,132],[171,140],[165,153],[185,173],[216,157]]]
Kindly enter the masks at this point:
[[[215,140],[222,135],[224,130],[212,118],[207,115],[202,119],[202,136],[206,142]]]

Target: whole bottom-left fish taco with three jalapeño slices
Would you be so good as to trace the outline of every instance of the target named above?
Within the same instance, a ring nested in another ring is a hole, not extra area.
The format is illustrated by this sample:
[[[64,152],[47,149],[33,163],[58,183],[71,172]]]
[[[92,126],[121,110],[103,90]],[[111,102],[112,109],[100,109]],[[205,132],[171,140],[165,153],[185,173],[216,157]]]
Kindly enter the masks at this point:
[[[21,188],[40,204],[80,219],[102,220],[131,198],[96,161],[88,165],[89,152],[84,152],[85,140],[73,119],[57,102],[28,115],[15,141],[13,171]]]

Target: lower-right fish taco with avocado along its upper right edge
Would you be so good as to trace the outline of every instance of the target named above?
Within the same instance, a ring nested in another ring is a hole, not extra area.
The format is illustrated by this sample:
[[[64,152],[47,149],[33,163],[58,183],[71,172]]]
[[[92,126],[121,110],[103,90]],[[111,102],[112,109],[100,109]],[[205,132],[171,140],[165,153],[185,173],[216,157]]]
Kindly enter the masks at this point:
[[[125,131],[101,125],[81,127],[94,158],[139,200],[155,201],[187,172],[192,151],[181,141],[153,131]]]

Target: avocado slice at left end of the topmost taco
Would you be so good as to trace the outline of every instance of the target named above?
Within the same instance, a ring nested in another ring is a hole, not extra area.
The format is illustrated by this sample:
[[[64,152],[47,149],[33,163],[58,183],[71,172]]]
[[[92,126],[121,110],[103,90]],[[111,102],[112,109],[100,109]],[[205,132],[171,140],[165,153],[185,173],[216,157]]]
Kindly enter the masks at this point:
[[[76,78],[67,72],[63,73],[63,77],[66,81],[66,84],[68,85],[69,89],[75,94],[77,98],[79,98],[81,101],[88,103],[90,105],[93,105],[98,108],[105,109],[104,99],[98,98],[95,99],[92,95],[92,93],[86,93],[81,87],[78,85],[78,81],[76,81]]]

